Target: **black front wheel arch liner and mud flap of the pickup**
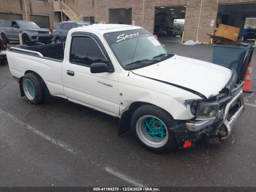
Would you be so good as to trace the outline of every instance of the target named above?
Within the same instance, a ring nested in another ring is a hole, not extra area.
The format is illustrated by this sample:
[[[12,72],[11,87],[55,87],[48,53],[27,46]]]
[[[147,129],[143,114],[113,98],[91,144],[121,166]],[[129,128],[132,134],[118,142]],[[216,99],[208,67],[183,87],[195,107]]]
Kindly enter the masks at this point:
[[[136,101],[133,102],[132,104],[130,104],[128,110],[124,111],[122,113],[122,116],[120,117],[120,121],[119,121],[119,128],[118,128],[118,135],[121,135],[125,132],[127,132],[128,130],[130,130],[130,123],[131,123],[131,118],[132,118],[132,114],[134,113],[134,111],[136,109],[138,109],[140,106],[143,105],[152,105],[152,106],[156,106],[154,104],[148,103],[148,102],[141,102],[141,101]],[[164,110],[163,108],[156,106],[162,110]],[[166,111],[166,110],[164,110]],[[168,111],[166,111],[170,116],[172,116]]]

